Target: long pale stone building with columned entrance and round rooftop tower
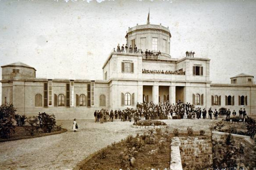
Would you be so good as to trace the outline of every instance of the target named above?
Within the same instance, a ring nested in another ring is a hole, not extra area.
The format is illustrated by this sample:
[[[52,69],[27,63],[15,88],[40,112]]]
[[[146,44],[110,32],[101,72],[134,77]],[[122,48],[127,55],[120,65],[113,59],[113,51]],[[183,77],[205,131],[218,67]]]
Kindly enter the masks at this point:
[[[35,115],[52,112],[57,119],[93,118],[101,108],[136,108],[137,102],[172,103],[181,100],[196,107],[236,110],[256,114],[256,85],[253,76],[239,74],[231,84],[212,84],[210,59],[172,58],[169,28],[143,25],[129,28],[128,46],[137,45],[143,54],[112,51],[102,67],[103,80],[45,79],[35,68],[16,62],[2,66],[2,101],[13,103],[19,113]],[[142,42],[143,41],[143,42]],[[154,41],[154,42],[153,42]],[[145,49],[161,55],[145,55]],[[151,50],[152,51],[152,50]],[[148,74],[142,70],[173,71],[184,74]],[[181,71],[181,72],[180,72]]]

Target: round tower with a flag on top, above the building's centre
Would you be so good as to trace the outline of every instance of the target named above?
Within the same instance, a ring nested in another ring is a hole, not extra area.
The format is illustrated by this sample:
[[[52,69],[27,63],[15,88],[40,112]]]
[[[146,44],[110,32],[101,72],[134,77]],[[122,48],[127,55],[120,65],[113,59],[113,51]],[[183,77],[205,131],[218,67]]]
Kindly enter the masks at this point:
[[[161,51],[161,56],[170,56],[170,39],[171,33],[169,27],[164,27],[160,25],[152,25],[149,23],[149,13],[148,21],[146,25],[137,25],[132,28],[128,28],[127,34],[125,36],[126,43],[128,46],[134,45],[142,51],[150,50],[153,52]]]

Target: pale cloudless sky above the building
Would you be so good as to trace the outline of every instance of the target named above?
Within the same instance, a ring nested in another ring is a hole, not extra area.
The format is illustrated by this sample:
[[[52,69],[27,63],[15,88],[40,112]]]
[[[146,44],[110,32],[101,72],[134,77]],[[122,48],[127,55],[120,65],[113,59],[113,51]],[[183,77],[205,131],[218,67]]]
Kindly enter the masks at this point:
[[[102,79],[111,49],[125,43],[128,27],[146,24],[148,8],[151,24],[169,26],[173,58],[187,50],[210,58],[212,82],[256,76],[255,0],[0,0],[0,65]]]

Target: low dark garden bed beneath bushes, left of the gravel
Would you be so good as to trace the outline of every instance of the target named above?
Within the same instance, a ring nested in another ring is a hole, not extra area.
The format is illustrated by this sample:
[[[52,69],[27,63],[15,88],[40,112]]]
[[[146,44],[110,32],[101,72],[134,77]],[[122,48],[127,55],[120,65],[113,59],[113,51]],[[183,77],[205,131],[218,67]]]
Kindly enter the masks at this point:
[[[33,127],[33,126],[15,126],[14,130],[15,130],[15,132],[12,134],[10,139],[0,138],[0,142],[37,138],[37,137],[42,137],[42,136],[55,135],[55,134],[63,133],[63,132],[67,131],[67,129],[61,128],[59,130],[52,130],[52,132],[50,132],[50,133],[44,133],[41,130],[38,130],[38,132],[36,132],[35,127]],[[31,132],[33,132],[33,133],[31,133]]]

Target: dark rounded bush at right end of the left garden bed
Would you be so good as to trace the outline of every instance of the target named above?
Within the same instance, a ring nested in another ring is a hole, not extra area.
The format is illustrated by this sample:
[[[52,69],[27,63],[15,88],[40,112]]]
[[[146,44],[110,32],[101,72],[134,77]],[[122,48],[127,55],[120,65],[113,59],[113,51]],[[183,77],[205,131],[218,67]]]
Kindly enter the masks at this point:
[[[44,130],[45,133],[52,132],[56,126],[55,115],[47,113],[38,113],[39,126]]]

